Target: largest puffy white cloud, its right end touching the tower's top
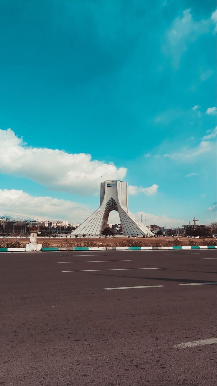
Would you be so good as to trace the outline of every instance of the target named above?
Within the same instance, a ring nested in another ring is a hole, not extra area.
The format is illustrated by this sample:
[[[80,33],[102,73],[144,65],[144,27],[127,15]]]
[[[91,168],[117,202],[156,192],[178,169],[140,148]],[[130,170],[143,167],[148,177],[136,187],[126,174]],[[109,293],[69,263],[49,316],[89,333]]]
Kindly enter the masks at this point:
[[[32,179],[50,190],[96,194],[100,182],[123,179],[126,168],[92,160],[90,154],[27,147],[11,129],[0,129],[0,172]]]

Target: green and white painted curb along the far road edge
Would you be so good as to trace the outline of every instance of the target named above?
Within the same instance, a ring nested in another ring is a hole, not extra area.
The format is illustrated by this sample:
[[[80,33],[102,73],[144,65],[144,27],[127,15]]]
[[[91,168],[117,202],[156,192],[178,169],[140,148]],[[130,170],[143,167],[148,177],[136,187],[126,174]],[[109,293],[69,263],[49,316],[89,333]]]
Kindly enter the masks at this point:
[[[72,248],[42,248],[42,252],[54,251],[150,251],[156,249],[217,249],[215,245],[193,245],[187,247],[72,247]],[[24,252],[25,248],[0,248],[0,252]]]

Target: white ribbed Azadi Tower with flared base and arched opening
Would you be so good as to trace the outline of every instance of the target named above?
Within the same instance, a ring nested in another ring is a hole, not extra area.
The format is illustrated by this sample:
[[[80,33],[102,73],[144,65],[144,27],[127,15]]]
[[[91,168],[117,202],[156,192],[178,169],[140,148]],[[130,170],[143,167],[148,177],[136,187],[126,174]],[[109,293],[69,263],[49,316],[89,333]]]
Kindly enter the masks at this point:
[[[107,227],[108,215],[117,210],[120,216],[123,235],[153,235],[145,225],[129,212],[127,203],[127,182],[101,182],[100,207],[88,217],[71,235],[100,235]]]

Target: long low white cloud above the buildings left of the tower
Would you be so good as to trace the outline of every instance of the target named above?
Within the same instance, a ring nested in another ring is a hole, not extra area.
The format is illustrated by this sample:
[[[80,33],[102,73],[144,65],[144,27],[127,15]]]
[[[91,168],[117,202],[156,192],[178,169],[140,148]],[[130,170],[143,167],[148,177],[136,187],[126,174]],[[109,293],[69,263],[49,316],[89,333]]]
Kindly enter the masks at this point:
[[[69,200],[49,196],[34,197],[22,190],[0,189],[0,213],[33,217],[38,220],[63,219],[82,222],[93,210]]]

